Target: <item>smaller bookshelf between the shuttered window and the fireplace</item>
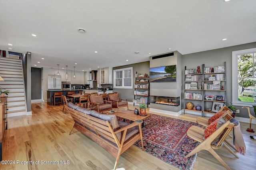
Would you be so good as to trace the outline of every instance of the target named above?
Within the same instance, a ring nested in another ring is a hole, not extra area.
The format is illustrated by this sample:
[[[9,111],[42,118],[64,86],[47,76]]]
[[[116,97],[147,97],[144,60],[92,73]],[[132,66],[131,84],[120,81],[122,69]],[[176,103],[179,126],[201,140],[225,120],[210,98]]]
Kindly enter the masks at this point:
[[[149,76],[135,77],[133,105],[149,104]]]

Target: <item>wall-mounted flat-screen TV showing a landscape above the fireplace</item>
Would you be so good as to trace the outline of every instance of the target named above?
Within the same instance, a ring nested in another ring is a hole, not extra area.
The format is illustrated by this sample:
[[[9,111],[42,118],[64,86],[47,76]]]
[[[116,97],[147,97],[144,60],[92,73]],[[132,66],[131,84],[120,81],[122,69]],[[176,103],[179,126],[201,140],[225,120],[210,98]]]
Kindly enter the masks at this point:
[[[176,82],[176,65],[149,68],[150,82]]]

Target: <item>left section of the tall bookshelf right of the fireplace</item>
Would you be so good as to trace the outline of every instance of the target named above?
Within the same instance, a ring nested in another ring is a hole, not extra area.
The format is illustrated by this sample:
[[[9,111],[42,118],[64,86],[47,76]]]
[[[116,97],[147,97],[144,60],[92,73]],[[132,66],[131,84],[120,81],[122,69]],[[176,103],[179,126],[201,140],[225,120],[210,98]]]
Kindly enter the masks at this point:
[[[197,69],[185,66],[185,81],[184,81],[184,113],[188,111],[201,112],[203,105],[203,73],[198,66]],[[187,104],[192,103],[194,107],[187,108]],[[197,107],[196,107],[197,106]]]

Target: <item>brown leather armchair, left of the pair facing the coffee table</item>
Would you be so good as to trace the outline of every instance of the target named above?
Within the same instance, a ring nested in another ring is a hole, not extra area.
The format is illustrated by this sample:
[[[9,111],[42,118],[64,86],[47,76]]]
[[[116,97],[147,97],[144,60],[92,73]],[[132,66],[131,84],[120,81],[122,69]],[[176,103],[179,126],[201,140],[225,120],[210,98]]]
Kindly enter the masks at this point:
[[[110,101],[103,100],[103,97],[90,95],[88,96],[88,102],[90,107],[95,107],[95,110],[103,113],[103,111],[112,110],[112,104]]]

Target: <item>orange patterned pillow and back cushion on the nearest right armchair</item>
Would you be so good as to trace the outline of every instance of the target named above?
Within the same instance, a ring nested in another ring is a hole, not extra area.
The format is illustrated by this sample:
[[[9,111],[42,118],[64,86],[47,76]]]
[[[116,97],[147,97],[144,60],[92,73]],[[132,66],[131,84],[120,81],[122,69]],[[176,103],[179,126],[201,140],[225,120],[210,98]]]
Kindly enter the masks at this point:
[[[210,135],[212,135],[212,133],[214,133],[222,124],[224,124],[226,121],[222,118],[219,117],[218,119],[216,119],[215,121],[213,121],[210,125],[208,125],[205,129],[204,129],[204,139],[207,139]],[[214,141],[212,141],[212,145],[216,144],[220,137],[221,137],[222,133],[220,133],[220,135],[218,135]]]

